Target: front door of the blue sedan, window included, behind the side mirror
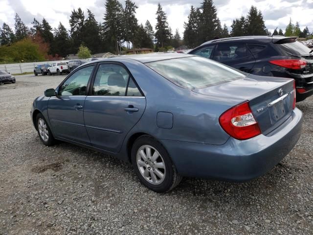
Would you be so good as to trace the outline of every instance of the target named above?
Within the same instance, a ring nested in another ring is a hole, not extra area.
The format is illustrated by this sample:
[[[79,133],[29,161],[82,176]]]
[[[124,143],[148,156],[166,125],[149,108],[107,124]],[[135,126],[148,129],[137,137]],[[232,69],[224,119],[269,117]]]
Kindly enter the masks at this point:
[[[48,101],[48,116],[56,138],[90,144],[84,123],[89,79],[95,66],[71,73]]]

